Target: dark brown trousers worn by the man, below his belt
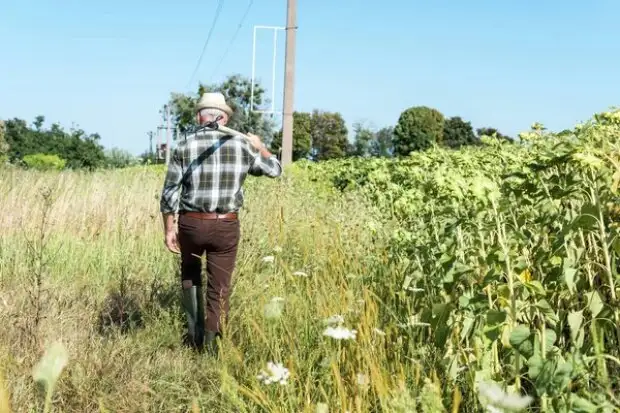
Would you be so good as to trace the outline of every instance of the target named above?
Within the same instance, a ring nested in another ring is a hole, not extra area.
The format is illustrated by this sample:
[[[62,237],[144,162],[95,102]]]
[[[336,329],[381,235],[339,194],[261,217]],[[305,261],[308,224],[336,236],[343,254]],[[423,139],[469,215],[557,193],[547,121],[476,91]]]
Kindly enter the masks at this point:
[[[221,333],[222,322],[228,321],[240,223],[234,218],[200,219],[180,214],[178,230],[183,288],[202,287],[200,257],[206,253],[205,330]]]

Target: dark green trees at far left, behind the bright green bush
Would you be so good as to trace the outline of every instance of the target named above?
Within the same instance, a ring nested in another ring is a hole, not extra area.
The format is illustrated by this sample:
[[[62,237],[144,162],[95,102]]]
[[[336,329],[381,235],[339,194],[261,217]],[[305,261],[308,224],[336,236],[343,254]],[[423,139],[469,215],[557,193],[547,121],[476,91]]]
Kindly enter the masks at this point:
[[[5,137],[11,162],[18,162],[27,155],[45,153],[58,155],[72,169],[92,170],[104,166],[105,155],[98,134],[87,135],[81,129],[67,132],[58,124],[52,124],[46,130],[43,122],[43,116],[37,116],[34,128],[30,128],[22,119],[6,121]]]

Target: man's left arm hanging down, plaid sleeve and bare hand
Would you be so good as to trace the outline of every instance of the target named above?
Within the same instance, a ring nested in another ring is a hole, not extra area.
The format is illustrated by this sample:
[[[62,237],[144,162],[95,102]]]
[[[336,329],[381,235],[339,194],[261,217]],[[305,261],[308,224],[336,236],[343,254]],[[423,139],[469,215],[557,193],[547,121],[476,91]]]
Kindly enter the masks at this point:
[[[166,246],[172,252],[178,252],[176,231],[174,230],[174,216],[179,208],[179,189],[183,177],[183,168],[178,151],[175,149],[170,157],[168,172],[164,180],[159,209],[164,224]]]

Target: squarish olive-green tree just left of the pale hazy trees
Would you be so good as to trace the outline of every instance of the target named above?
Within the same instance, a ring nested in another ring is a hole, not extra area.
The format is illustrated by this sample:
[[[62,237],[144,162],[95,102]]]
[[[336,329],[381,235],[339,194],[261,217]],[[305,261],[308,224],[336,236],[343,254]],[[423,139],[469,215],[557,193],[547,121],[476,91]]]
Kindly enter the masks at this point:
[[[317,160],[343,158],[347,154],[348,130],[338,112],[312,111],[312,157]]]

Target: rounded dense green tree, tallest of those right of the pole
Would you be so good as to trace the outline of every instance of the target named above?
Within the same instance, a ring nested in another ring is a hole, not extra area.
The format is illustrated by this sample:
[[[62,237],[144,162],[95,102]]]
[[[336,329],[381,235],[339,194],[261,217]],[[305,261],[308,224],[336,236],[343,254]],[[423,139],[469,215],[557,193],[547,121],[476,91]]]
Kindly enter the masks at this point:
[[[411,107],[401,113],[394,129],[394,152],[407,156],[443,140],[444,118],[441,112],[426,106]]]

